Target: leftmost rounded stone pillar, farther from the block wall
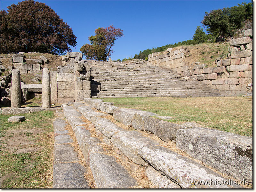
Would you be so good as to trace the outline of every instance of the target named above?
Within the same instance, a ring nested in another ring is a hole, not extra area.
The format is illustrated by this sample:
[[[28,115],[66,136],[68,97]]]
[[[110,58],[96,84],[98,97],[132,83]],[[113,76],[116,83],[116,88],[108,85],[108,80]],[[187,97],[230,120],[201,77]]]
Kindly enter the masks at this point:
[[[11,108],[21,107],[20,71],[12,69]]]

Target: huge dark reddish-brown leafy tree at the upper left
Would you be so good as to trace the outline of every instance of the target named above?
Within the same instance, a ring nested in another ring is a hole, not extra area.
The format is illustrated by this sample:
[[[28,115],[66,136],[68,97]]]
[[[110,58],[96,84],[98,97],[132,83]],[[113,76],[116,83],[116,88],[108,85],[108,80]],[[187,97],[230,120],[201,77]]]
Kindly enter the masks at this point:
[[[22,1],[2,10],[1,52],[42,52],[63,55],[76,47],[67,23],[45,3]]]

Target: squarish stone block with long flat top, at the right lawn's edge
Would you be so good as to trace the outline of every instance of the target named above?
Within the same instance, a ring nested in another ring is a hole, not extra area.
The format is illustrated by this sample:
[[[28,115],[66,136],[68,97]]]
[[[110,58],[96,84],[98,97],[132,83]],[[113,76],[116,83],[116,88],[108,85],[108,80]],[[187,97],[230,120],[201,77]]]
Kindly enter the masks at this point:
[[[113,116],[116,120],[120,121],[124,125],[131,125],[132,117],[135,115],[135,113],[146,116],[157,116],[156,113],[128,108],[118,108],[116,111],[113,112]]]

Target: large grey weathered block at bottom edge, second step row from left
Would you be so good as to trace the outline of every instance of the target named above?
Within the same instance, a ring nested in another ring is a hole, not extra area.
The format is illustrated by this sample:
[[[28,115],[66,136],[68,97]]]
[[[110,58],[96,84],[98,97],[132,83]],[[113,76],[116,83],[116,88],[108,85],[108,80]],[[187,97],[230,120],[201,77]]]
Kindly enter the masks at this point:
[[[90,155],[90,167],[98,188],[129,188],[137,186],[136,180],[116,163],[115,157],[94,153]]]

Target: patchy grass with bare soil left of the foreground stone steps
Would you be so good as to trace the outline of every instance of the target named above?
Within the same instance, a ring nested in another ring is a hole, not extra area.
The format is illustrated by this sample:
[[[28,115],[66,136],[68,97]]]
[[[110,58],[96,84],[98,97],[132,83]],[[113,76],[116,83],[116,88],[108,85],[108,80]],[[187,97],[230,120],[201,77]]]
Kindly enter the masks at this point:
[[[22,114],[21,114],[22,115]],[[53,111],[1,115],[1,188],[52,188]]]

